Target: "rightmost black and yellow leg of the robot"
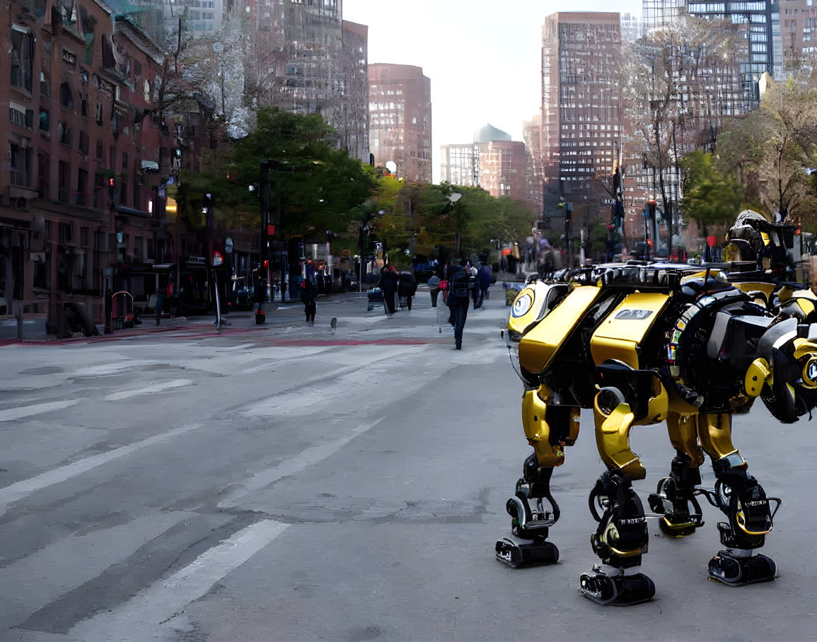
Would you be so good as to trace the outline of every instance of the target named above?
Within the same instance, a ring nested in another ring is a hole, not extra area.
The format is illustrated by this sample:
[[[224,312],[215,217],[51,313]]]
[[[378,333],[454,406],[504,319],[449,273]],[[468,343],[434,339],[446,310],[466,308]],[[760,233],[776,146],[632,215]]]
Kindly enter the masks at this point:
[[[717,525],[725,550],[709,561],[709,577],[730,586],[774,580],[774,560],[753,551],[766,543],[780,500],[766,497],[761,484],[748,474],[746,460],[732,445],[730,414],[699,415],[698,434],[703,449],[712,457],[717,479],[714,491],[702,489],[702,493],[726,515],[726,521]],[[775,503],[774,510],[770,502]]]

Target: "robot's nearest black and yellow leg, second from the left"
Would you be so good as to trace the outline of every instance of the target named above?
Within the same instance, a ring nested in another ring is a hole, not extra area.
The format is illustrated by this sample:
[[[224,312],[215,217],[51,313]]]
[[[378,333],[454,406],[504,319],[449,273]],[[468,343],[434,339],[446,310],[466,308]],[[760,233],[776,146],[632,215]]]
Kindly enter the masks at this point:
[[[582,573],[579,591],[597,604],[639,604],[655,595],[655,586],[639,570],[649,535],[644,506],[632,489],[632,481],[646,475],[641,460],[630,449],[634,417],[617,388],[598,392],[593,414],[596,444],[607,466],[589,497],[590,511],[599,523],[590,542],[601,564]]]

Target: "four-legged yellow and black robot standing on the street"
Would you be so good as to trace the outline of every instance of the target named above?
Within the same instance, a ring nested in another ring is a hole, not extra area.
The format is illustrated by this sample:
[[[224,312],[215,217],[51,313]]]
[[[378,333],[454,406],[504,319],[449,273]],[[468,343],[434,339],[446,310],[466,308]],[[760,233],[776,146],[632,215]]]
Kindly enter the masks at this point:
[[[645,469],[629,445],[632,426],[667,422],[676,457],[650,495],[663,533],[684,537],[703,525],[698,497],[720,509],[725,550],[709,577],[729,585],[766,582],[776,566],[757,554],[780,501],[766,497],[732,443],[734,413],[757,397],[785,423],[817,405],[817,320],[813,293],[791,283],[747,283],[741,274],[688,265],[585,270],[571,283],[534,281],[516,297],[507,342],[525,382],[522,423],[534,452],[507,502],[511,537],[496,544],[513,567],[547,564],[559,519],[553,469],[578,437],[580,408],[592,408],[607,470],[589,497],[600,558],[579,589],[598,604],[636,604],[655,588],[639,572],[647,524],[632,482]],[[699,466],[712,459],[717,483],[702,488]]]

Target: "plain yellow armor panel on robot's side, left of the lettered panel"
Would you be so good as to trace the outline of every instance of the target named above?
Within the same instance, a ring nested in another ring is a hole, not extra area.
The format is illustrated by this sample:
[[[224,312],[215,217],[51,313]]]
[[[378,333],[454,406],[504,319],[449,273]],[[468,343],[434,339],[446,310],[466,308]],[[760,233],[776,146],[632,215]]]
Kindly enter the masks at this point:
[[[575,288],[536,328],[522,337],[519,363],[528,372],[543,372],[601,292],[593,285]]]

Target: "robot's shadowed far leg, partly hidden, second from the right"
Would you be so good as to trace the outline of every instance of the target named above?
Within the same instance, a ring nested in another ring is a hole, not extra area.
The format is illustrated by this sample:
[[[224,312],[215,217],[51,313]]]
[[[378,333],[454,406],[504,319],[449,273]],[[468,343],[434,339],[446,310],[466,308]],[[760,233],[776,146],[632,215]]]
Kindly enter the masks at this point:
[[[670,464],[669,476],[659,481],[648,501],[654,513],[661,515],[659,528],[668,537],[685,537],[703,526],[703,511],[695,497],[701,484],[699,466],[703,450],[698,442],[698,423],[694,414],[667,415],[667,428],[676,456]]]

